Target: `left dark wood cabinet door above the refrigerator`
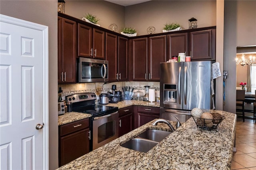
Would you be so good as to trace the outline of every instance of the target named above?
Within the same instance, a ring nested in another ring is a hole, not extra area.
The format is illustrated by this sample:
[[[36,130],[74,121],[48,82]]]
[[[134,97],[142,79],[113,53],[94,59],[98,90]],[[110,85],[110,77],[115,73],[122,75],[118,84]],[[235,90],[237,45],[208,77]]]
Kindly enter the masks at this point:
[[[178,56],[178,53],[188,54],[188,33],[168,35],[168,59]]]

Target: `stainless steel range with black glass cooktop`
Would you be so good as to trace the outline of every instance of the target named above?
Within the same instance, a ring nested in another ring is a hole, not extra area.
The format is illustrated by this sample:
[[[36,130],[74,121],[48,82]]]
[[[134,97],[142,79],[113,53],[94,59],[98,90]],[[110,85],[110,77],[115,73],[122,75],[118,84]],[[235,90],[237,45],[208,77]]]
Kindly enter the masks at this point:
[[[72,111],[91,114],[90,151],[118,138],[118,107],[96,105],[95,93],[66,96],[72,102]]]

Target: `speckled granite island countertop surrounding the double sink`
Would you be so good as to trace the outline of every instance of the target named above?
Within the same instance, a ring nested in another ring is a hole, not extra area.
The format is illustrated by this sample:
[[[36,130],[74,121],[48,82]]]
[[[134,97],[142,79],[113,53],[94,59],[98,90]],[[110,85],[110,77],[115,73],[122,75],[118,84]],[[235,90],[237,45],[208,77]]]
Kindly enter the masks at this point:
[[[211,110],[213,111],[213,110]],[[164,123],[147,123],[104,146],[62,166],[66,169],[171,169],[171,170],[230,170],[236,129],[236,114],[216,111],[225,116],[215,130],[196,127],[193,118],[147,153],[120,146],[146,129],[168,130]],[[176,122],[171,122],[175,127]]]

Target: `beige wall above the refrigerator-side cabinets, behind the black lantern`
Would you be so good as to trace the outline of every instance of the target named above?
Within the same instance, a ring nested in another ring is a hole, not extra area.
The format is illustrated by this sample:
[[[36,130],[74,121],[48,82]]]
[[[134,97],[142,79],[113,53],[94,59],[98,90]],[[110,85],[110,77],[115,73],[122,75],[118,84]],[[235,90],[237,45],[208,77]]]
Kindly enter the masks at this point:
[[[152,0],[125,8],[125,26],[145,35],[149,26],[161,33],[164,24],[176,22],[188,29],[188,20],[196,18],[198,27],[216,26],[215,0]]]

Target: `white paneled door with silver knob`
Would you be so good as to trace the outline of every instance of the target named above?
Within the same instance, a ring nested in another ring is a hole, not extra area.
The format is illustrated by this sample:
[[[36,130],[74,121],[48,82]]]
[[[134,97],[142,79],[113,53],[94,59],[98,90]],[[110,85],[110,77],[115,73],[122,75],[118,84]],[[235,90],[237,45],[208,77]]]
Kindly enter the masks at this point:
[[[1,170],[48,169],[47,102],[48,27],[0,15]]]

